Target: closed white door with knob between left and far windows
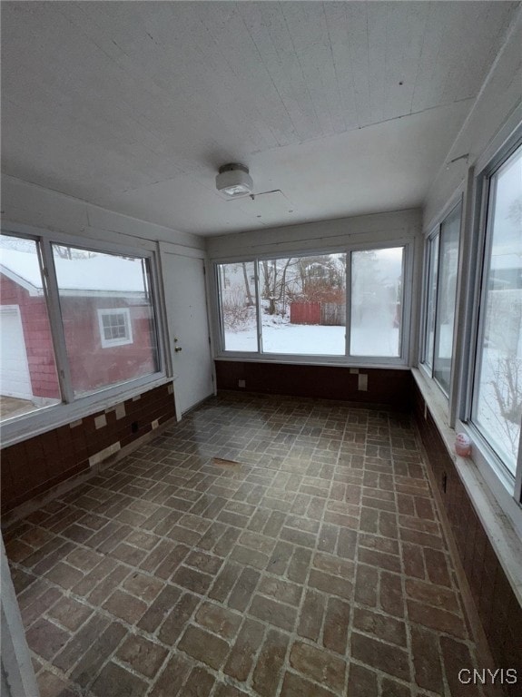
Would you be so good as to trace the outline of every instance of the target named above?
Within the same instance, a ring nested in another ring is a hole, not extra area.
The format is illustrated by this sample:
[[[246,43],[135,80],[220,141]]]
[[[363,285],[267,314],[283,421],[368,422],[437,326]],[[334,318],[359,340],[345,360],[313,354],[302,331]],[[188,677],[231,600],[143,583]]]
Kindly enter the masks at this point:
[[[162,270],[174,396],[182,414],[214,391],[203,260],[163,248]]]

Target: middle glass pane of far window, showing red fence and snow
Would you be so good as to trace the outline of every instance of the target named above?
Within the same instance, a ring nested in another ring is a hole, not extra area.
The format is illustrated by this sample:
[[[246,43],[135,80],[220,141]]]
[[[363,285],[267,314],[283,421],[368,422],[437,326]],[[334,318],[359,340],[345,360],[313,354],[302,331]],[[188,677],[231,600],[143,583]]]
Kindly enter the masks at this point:
[[[346,254],[261,260],[263,353],[344,356]]]

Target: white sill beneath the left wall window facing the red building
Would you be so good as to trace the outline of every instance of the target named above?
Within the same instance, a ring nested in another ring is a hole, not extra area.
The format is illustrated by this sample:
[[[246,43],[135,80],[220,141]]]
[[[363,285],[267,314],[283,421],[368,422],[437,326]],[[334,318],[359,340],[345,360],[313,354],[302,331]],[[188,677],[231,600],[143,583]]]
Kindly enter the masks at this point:
[[[126,399],[132,399],[143,392],[148,392],[153,388],[159,388],[174,378],[167,378],[165,375],[156,373],[147,379],[134,381],[132,385],[128,383],[117,385],[113,388],[103,390],[93,395],[78,399],[73,404],[57,404],[51,407],[44,407],[29,414],[22,414],[12,420],[6,420],[0,425],[0,435],[2,447],[14,446],[27,438],[39,436],[54,428],[66,426],[79,418],[90,416],[97,411],[114,407],[121,404]]]

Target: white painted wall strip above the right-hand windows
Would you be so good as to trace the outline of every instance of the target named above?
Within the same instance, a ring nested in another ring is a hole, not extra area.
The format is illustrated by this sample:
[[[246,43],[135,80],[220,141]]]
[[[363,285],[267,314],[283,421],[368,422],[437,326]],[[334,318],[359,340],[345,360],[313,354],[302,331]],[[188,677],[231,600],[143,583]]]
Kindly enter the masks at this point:
[[[463,190],[468,169],[476,174],[486,164],[494,149],[506,140],[522,121],[522,7],[514,17],[507,38],[497,54],[475,104],[468,113],[457,138],[449,149],[445,164],[428,190],[423,206],[426,231],[438,221],[448,201],[459,188]],[[448,164],[468,153],[463,159]]]

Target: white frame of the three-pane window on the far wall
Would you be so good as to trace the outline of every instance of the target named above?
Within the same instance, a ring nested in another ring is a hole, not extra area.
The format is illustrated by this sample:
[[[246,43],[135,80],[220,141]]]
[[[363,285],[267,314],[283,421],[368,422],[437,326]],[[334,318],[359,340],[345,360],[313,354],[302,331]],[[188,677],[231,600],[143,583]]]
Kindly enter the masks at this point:
[[[211,306],[212,306],[212,329],[216,341],[216,352],[214,358],[218,360],[232,361],[252,361],[263,363],[291,363],[307,365],[341,365],[369,368],[409,368],[409,348],[410,348],[410,329],[412,325],[411,306],[412,306],[412,284],[413,284],[413,259],[414,259],[414,238],[397,237],[389,240],[353,242],[342,246],[318,249],[285,249],[279,251],[267,251],[260,254],[245,254],[242,256],[223,256],[222,258],[212,258],[212,285],[211,285]],[[350,301],[351,301],[351,269],[350,260],[352,251],[365,250],[387,250],[394,247],[403,247],[403,302],[401,309],[401,345],[398,357],[360,357],[350,356],[347,352],[350,347]],[[329,254],[346,255],[346,340],[344,355],[331,356],[326,354],[292,354],[292,353],[263,353],[261,352],[261,312],[260,312],[260,280],[258,263],[261,260],[290,259],[297,257],[327,256]],[[253,262],[255,273],[255,290],[257,303],[257,351],[231,351],[224,347],[224,327],[222,322],[222,303],[220,296],[220,280],[218,267],[222,264],[234,264],[241,262]]]

